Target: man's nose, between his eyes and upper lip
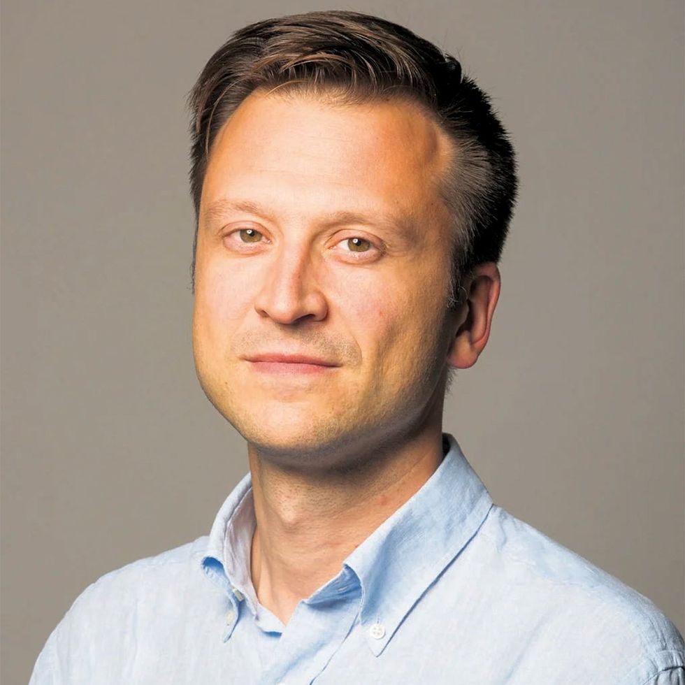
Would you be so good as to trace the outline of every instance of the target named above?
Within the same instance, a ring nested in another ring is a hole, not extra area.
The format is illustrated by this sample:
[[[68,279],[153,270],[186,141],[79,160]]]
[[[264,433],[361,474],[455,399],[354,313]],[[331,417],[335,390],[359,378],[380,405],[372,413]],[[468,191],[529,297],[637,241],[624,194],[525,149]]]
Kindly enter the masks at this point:
[[[326,298],[317,285],[307,250],[284,247],[265,271],[264,284],[254,299],[254,309],[260,316],[279,324],[321,321],[326,317]]]

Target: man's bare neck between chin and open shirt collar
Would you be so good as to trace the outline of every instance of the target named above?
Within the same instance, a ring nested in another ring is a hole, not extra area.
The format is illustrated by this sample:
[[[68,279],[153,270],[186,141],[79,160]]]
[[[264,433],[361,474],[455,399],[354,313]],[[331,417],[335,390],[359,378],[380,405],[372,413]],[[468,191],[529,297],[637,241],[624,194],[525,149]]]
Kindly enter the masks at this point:
[[[297,603],[335,577],[343,561],[433,475],[442,431],[432,426],[363,467],[335,473],[284,469],[250,445],[257,526],[250,568],[259,603],[286,624]]]

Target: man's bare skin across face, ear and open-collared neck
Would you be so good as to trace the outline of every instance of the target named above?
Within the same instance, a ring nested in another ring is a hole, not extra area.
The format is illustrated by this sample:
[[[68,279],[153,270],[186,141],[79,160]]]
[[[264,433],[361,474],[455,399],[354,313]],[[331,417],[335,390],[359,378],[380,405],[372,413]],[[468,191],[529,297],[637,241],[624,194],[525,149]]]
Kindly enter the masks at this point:
[[[448,367],[472,366],[489,337],[495,264],[479,265],[466,302],[447,308],[451,229],[437,181],[452,154],[406,101],[264,92],[212,145],[196,370],[247,440],[252,582],[283,624],[438,468]],[[362,216],[331,216],[342,211]],[[250,361],[273,352],[332,366]]]

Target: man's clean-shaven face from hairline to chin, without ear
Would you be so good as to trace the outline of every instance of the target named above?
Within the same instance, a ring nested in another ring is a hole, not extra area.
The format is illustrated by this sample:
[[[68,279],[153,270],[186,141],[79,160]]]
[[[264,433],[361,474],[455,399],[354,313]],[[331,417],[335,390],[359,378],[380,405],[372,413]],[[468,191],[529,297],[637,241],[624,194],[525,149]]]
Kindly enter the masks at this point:
[[[353,456],[441,412],[454,323],[437,183],[451,150],[399,101],[253,93],[219,132],[200,207],[196,369],[264,453],[301,466]]]

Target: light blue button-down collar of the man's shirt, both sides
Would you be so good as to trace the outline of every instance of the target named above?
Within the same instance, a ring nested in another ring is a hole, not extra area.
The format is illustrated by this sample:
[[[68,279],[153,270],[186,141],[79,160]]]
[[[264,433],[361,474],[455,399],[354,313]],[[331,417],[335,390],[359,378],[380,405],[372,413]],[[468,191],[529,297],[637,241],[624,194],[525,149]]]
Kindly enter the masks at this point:
[[[485,520],[492,499],[452,435],[435,473],[343,562],[362,588],[361,626],[368,646],[380,654],[404,617]],[[222,505],[201,564],[235,603],[245,598],[254,615],[250,579],[254,533],[252,479],[248,473]],[[378,631],[370,630],[380,623]]]

